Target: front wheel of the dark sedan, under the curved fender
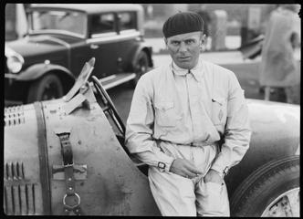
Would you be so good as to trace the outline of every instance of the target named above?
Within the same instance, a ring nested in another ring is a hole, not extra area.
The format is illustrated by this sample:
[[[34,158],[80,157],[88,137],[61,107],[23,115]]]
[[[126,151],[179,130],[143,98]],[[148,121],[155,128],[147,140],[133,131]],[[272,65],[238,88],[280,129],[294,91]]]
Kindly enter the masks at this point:
[[[27,102],[58,99],[63,96],[63,87],[59,78],[49,74],[35,81],[29,88]]]

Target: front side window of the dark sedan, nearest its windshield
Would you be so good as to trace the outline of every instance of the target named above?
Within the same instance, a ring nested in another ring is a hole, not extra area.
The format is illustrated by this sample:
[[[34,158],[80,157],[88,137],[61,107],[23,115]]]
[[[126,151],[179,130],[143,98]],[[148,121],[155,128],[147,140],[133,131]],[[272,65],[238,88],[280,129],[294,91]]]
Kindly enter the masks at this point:
[[[91,16],[91,34],[99,35],[104,33],[115,32],[114,14],[103,14]]]

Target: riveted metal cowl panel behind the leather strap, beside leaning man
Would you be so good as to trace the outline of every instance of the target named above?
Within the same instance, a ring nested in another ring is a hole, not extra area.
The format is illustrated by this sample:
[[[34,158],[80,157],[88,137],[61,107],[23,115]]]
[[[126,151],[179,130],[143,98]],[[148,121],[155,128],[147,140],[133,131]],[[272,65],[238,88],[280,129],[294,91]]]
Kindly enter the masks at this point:
[[[44,104],[48,163],[51,165],[62,160],[54,129],[62,125],[69,127],[74,162],[79,165],[85,163],[88,167],[87,179],[76,180],[83,214],[159,214],[147,177],[121,148],[99,105],[95,102],[92,103],[93,110],[80,108],[65,115],[62,111],[64,104],[62,100]],[[52,214],[60,214],[64,188],[64,182],[51,181]]]

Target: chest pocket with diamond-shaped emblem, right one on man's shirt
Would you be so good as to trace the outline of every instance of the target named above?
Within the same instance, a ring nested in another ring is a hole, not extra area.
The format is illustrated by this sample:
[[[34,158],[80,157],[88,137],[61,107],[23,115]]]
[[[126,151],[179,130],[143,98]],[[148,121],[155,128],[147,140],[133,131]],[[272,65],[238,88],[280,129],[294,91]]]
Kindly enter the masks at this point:
[[[212,120],[214,125],[223,125],[227,115],[227,99],[216,98],[212,99]]]

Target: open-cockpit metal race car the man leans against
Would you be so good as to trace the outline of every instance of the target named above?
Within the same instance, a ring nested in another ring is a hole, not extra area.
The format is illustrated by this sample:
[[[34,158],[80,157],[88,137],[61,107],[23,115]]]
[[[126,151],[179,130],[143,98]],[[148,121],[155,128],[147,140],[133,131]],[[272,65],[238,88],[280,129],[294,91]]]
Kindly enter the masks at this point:
[[[119,112],[90,79],[94,63],[63,98],[5,108],[5,214],[160,215],[148,166],[124,146]],[[299,106],[247,101],[250,148],[225,176],[231,215],[299,216]]]

